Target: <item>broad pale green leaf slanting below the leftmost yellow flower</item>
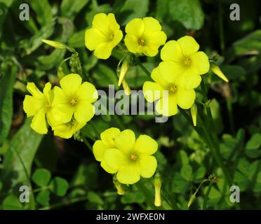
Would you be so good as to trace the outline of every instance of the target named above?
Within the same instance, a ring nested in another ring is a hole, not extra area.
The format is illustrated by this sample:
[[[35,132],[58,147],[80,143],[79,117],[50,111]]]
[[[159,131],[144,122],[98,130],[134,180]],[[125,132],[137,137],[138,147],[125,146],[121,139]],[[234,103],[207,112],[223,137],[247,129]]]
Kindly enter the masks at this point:
[[[32,119],[30,118],[25,120],[24,125],[20,127],[20,130],[11,140],[11,144],[6,152],[2,178],[8,190],[17,183],[28,185],[27,174],[28,176],[31,174],[34,155],[44,136],[32,130],[30,127],[31,121]]]

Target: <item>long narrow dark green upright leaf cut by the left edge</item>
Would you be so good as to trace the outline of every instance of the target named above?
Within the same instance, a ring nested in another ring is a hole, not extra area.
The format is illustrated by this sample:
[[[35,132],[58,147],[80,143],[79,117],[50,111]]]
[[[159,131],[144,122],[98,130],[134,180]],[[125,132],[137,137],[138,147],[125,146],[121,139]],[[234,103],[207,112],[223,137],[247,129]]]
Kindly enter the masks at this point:
[[[14,64],[4,63],[6,63],[8,69],[7,71],[1,71],[3,76],[0,78],[0,146],[8,136],[11,127],[13,117],[13,85],[18,71],[17,66]]]

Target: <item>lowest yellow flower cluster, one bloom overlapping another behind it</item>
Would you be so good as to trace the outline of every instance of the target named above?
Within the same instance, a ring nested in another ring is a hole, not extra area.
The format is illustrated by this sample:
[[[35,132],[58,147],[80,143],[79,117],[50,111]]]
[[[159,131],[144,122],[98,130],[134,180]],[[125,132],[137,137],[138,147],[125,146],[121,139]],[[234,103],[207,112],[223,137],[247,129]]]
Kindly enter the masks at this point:
[[[120,183],[133,184],[140,176],[149,178],[156,171],[158,144],[151,137],[142,134],[135,139],[132,130],[122,132],[115,127],[100,134],[101,140],[95,141],[93,154],[106,172],[116,174]]]

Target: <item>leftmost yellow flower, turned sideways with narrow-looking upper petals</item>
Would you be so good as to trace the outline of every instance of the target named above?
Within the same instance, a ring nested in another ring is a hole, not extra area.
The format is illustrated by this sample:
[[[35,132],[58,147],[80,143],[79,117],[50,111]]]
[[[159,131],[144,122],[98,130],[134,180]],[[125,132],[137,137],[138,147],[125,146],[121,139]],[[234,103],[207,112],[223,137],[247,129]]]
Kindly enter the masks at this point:
[[[34,116],[31,123],[32,129],[39,134],[46,134],[48,132],[46,117],[49,124],[53,120],[51,116],[51,103],[53,101],[51,83],[46,83],[44,93],[34,83],[27,83],[27,90],[32,96],[25,95],[23,102],[24,111],[27,117]]]

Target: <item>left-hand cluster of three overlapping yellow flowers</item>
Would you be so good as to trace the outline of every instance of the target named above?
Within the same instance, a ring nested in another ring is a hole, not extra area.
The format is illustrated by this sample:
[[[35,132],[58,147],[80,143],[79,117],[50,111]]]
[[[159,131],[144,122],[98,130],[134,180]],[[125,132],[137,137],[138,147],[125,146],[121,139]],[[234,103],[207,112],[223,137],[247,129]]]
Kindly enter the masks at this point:
[[[25,96],[23,105],[27,117],[34,117],[31,127],[35,132],[46,134],[50,125],[56,136],[69,139],[93,118],[98,92],[75,73],[62,78],[60,86],[52,90],[51,83],[46,83],[41,92],[34,83],[28,83],[32,95]]]

